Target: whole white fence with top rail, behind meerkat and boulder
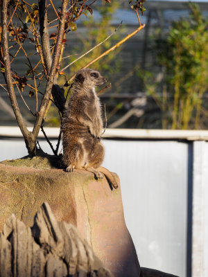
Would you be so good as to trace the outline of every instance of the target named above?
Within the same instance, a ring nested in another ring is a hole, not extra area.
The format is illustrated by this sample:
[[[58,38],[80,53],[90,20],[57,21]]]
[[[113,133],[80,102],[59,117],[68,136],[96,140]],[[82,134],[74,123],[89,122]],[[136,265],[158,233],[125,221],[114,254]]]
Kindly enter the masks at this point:
[[[103,166],[121,179],[125,221],[140,265],[207,277],[208,132],[107,130],[105,137]],[[50,151],[45,141],[40,145]],[[1,138],[0,160],[26,154],[22,139]]]

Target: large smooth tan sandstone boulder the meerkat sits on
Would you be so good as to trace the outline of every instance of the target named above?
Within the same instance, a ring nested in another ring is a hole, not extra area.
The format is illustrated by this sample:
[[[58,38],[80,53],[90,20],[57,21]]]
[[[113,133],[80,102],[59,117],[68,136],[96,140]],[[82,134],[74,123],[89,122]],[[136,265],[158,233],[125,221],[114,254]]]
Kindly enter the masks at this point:
[[[41,161],[39,166],[42,166]],[[119,183],[118,177],[116,180]],[[43,202],[48,202],[55,219],[76,226],[103,265],[110,269],[114,276],[139,276],[137,253],[125,226],[121,189],[119,187],[117,190],[111,190],[105,177],[96,181],[94,175],[85,170],[69,173],[60,169],[38,170],[33,166],[21,168],[0,164],[0,197],[0,231],[12,213],[26,226],[32,226],[36,211]],[[38,224],[37,220],[35,222]],[[52,236],[44,233],[41,238],[47,243],[50,240],[53,248],[60,251],[61,237],[66,232],[65,229],[63,223],[53,230]],[[73,235],[72,230],[71,232]],[[67,244],[66,247],[74,248],[76,243]],[[59,255],[58,253],[56,255]],[[80,258],[85,267],[86,257]],[[34,259],[40,258],[35,256]],[[71,265],[75,267],[76,256],[67,259],[70,259]],[[53,262],[51,258],[49,263]]]

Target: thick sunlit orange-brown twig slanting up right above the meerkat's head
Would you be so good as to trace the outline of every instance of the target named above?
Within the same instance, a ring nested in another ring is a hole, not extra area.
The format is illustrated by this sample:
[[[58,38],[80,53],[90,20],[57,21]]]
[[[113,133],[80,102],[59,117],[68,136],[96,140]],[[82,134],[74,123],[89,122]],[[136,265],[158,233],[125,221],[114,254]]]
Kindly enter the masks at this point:
[[[89,67],[91,64],[94,64],[94,62],[97,62],[98,60],[100,60],[102,57],[105,57],[105,55],[109,54],[110,52],[114,51],[114,49],[116,49],[117,47],[121,46],[121,44],[123,44],[123,42],[126,42],[128,39],[130,39],[130,37],[133,37],[134,35],[136,35],[140,30],[142,30],[145,27],[145,24],[142,24],[141,26],[139,26],[139,28],[137,28],[136,30],[134,30],[134,32],[130,33],[130,35],[127,35],[126,37],[124,37],[124,39],[122,39],[120,42],[118,42],[117,44],[115,44],[114,46],[112,46],[110,49],[108,49],[107,51],[105,51],[103,54],[99,55],[98,57],[96,57],[94,60],[92,60],[91,62],[89,62],[88,64],[85,64],[85,66],[83,66],[82,69],[86,69],[87,67]],[[73,80],[73,78],[76,76],[76,73],[73,74],[73,76],[71,76],[71,78],[69,79],[68,82],[71,82],[71,80]]]

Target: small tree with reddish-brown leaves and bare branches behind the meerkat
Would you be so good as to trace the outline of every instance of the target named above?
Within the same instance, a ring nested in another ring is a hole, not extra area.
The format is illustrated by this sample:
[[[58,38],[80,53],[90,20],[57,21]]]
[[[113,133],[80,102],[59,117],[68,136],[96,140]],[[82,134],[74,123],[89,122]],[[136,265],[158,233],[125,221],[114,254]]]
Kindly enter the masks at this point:
[[[110,0],[104,1],[108,4],[111,3]],[[55,105],[60,110],[60,114],[64,108],[64,90],[58,86],[58,78],[64,74],[63,71],[60,71],[60,64],[62,62],[65,42],[67,41],[67,34],[69,30],[76,29],[76,21],[83,13],[87,11],[92,13],[95,2],[96,0],[62,0],[61,7],[58,9],[55,8],[53,1],[50,0],[50,5],[56,15],[56,18],[50,21],[48,18],[49,4],[46,3],[46,0],[39,0],[38,5],[24,0],[1,0],[0,62],[1,73],[3,73],[5,80],[5,84],[1,84],[1,87],[4,87],[9,94],[11,107],[15,113],[21,133],[24,136],[28,153],[31,155],[36,154],[37,136],[40,128],[43,126],[44,118],[51,102],[55,102]],[[144,11],[142,8],[144,0],[135,0],[134,2],[135,5],[132,5],[132,9],[137,12],[139,19],[138,10]],[[25,21],[22,18],[26,18]],[[21,26],[17,26],[17,22]],[[52,27],[56,28],[57,31],[49,35],[49,28]],[[138,33],[142,28],[144,28],[144,24],[141,25],[139,20],[139,28],[137,30],[84,67],[93,64],[107,55],[107,53],[110,53],[110,51],[113,51],[114,48],[123,44],[123,42]],[[8,37],[11,37],[11,39],[8,39]],[[52,41],[51,44],[50,40]],[[26,42],[34,45],[35,51],[33,55],[38,57],[35,65],[31,61],[31,55],[25,50]],[[11,66],[20,52],[24,54],[28,65],[28,71],[26,71],[24,76],[18,75]],[[73,80],[73,77],[74,75],[70,78],[70,82]],[[41,92],[39,87],[44,79],[46,79],[46,86],[44,92]],[[31,84],[31,82],[33,83]],[[23,92],[25,87],[31,89],[30,95],[35,95],[35,112],[31,111],[24,100]],[[34,116],[35,123],[32,132],[28,131],[26,122],[21,114],[15,90],[19,91],[26,107]],[[38,93],[42,94],[40,107],[38,105]],[[53,150],[53,153],[58,154],[58,148]]]

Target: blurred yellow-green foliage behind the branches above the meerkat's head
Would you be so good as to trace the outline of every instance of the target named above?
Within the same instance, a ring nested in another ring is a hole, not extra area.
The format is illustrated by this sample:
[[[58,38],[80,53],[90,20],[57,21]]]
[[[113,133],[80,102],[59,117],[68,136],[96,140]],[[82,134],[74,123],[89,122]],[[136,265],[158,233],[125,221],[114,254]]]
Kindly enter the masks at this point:
[[[83,22],[87,35],[80,36],[78,34],[78,39],[80,40],[80,44],[78,46],[74,46],[72,52],[73,53],[82,53],[83,48],[85,52],[89,51],[91,48],[103,42],[103,40],[110,35],[110,32],[114,31],[114,27],[110,25],[110,21],[112,20],[112,16],[116,9],[119,8],[119,1],[115,0],[109,6],[103,3],[101,6],[98,6],[96,9],[100,12],[101,19],[99,21],[94,21],[94,17],[89,15],[86,17],[86,20]],[[90,12],[92,14],[92,12]],[[120,32],[121,34],[121,32]],[[94,58],[101,55],[101,53],[105,52],[108,48],[112,46],[119,39],[119,35],[113,35],[110,39],[103,42],[101,46],[98,46],[91,53],[78,60],[75,64],[70,66],[71,73],[78,71],[78,69],[82,68],[88,62],[94,60]],[[99,71],[107,71],[109,75],[111,75],[115,68],[118,70],[120,61],[116,58],[116,54],[119,53],[120,49],[117,48],[116,51],[113,51],[105,57],[105,60],[95,62],[93,64],[94,69]],[[73,62],[76,60],[77,56],[74,55],[69,58],[69,62]],[[114,62],[114,69],[112,69],[111,62]]]

